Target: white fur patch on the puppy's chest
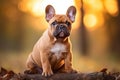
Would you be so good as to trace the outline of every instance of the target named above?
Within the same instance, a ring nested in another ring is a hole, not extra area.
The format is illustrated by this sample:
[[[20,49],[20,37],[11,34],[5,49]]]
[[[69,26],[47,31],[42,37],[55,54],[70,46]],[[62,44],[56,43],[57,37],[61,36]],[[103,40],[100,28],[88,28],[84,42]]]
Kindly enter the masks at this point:
[[[62,43],[56,43],[54,46],[52,46],[51,52],[55,54],[57,59],[59,59],[62,56],[64,56],[64,53],[67,52],[66,45],[64,45]]]

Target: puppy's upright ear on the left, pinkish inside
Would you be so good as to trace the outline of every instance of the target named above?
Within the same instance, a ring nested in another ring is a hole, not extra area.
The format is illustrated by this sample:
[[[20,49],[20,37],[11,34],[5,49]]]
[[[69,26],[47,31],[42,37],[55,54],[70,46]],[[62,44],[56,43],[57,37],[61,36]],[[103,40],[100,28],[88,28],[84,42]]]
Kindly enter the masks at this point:
[[[55,15],[55,9],[53,6],[48,5],[45,9],[46,13],[46,21],[49,22],[49,20]]]

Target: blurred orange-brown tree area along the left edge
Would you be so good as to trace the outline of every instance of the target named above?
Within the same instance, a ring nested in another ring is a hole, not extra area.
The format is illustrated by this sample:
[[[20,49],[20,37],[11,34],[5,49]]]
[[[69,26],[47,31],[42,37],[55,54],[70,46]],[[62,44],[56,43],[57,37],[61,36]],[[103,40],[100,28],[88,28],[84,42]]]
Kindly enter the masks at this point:
[[[0,0],[0,51],[22,48],[23,13],[18,9],[19,0]]]

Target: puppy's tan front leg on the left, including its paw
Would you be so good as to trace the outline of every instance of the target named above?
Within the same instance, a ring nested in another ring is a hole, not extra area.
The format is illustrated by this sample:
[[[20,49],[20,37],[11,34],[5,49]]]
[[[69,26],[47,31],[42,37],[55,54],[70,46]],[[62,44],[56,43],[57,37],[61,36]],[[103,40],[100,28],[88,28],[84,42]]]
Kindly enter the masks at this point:
[[[41,56],[41,63],[43,69],[42,75],[46,77],[51,76],[53,74],[53,71],[51,69],[48,54],[42,53],[40,56]]]

